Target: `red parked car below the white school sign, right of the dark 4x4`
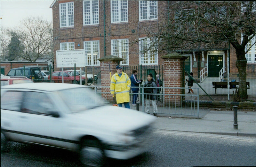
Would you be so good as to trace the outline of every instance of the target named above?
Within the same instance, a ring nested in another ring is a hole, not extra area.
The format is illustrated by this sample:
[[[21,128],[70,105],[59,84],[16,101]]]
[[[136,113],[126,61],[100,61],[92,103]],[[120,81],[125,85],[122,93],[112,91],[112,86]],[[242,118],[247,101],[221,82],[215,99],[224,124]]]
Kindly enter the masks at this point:
[[[54,71],[52,73],[52,79],[53,79],[53,82],[62,83],[62,71]],[[50,80],[50,76],[48,76],[48,80]],[[71,74],[66,71],[63,71],[63,80],[64,80],[64,83],[80,84],[80,76],[77,75],[75,79],[74,73]],[[82,85],[84,84],[85,84],[85,76],[82,76]]]

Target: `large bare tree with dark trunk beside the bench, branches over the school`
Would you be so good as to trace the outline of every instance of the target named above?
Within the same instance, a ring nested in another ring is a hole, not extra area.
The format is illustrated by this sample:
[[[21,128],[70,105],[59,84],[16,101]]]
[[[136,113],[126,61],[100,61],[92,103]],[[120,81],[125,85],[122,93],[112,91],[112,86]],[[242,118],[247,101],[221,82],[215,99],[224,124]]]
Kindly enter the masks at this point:
[[[248,98],[245,46],[255,37],[255,2],[169,1],[162,22],[155,27],[140,27],[154,37],[158,52],[236,50],[239,72],[239,97]],[[252,43],[252,45],[255,43]]]

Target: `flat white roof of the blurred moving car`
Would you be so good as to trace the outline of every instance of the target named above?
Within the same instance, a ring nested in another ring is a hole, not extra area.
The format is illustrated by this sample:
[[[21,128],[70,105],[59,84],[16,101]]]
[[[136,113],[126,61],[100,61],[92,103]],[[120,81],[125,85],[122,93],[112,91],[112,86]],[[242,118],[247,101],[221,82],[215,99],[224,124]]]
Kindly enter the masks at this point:
[[[63,89],[86,87],[84,85],[71,84],[71,83],[20,83],[1,86],[1,89],[32,89],[41,91],[59,91]]]

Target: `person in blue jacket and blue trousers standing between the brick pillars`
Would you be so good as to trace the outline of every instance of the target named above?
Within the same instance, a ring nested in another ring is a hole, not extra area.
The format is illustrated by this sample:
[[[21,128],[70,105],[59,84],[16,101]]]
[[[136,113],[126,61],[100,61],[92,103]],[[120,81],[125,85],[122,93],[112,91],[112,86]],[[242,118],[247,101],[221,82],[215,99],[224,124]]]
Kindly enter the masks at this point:
[[[132,87],[139,87],[140,83],[142,83],[142,79],[140,79],[140,80],[137,79],[137,72],[138,71],[136,69],[132,70],[132,75],[130,77]],[[139,88],[132,88],[132,92],[134,93],[133,100],[132,100],[132,106],[136,106],[136,101],[137,101],[139,90],[140,90]]]

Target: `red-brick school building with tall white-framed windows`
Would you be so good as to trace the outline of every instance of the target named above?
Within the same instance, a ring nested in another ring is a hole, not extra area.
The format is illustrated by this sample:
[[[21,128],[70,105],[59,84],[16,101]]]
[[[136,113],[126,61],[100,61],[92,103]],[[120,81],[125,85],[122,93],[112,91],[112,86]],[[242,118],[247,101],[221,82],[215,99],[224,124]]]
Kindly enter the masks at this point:
[[[146,36],[140,27],[157,26],[164,19],[161,10],[167,4],[168,1],[54,1],[51,5],[54,62],[56,51],[82,49],[85,67],[100,69],[98,59],[107,55],[123,58],[121,65],[124,66],[164,65],[163,55],[149,51],[140,55],[150,42],[149,39],[143,40]],[[150,55],[150,58],[145,55]],[[219,76],[221,69],[227,71],[228,61],[230,78],[238,75],[232,46],[223,50],[195,50],[186,55],[189,57],[185,61],[185,69],[192,71],[195,78],[200,77],[202,70],[208,77]],[[255,45],[247,58],[247,77],[255,78]],[[54,69],[59,70],[56,66]]]

